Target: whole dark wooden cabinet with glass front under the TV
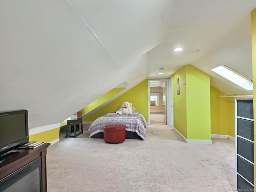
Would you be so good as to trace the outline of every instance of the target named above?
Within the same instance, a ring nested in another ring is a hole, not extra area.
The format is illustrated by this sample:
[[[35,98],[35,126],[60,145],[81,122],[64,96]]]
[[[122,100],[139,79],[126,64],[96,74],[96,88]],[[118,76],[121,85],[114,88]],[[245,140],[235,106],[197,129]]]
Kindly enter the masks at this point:
[[[0,192],[47,192],[45,143],[0,162]]]

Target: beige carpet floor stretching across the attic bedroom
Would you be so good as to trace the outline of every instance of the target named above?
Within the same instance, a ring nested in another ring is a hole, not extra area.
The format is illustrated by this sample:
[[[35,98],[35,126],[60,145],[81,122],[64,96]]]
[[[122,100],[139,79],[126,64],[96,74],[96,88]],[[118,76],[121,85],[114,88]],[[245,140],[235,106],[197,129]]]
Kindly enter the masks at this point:
[[[64,138],[47,150],[48,192],[234,191],[234,141],[186,144],[166,125],[147,126],[142,140]]]

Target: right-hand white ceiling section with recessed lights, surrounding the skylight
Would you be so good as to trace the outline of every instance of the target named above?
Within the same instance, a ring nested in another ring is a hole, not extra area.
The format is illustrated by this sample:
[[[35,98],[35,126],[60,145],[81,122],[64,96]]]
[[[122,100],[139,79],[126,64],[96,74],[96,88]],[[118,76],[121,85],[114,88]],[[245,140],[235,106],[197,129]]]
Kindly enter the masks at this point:
[[[255,6],[253,0],[172,1],[162,43],[147,53],[148,77],[159,78],[159,68],[164,67],[162,77],[169,78],[192,64],[209,74],[212,86],[226,94],[251,94],[211,69],[225,64],[252,79],[250,11]],[[176,46],[184,50],[175,53]]]

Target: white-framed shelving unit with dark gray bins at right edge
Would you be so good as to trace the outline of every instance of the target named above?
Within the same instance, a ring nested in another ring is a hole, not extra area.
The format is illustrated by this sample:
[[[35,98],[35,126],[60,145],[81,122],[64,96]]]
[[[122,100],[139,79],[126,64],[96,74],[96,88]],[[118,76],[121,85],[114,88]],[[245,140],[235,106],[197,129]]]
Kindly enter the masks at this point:
[[[236,189],[254,191],[253,100],[235,99]]]

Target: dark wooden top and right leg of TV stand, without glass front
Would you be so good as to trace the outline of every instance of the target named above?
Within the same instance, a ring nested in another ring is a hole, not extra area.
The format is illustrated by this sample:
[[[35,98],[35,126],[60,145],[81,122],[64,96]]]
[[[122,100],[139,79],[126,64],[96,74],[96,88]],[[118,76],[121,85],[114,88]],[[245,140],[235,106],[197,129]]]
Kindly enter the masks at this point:
[[[7,176],[10,176],[17,170],[25,167],[30,162],[41,158],[41,184],[42,192],[47,192],[47,180],[46,180],[46,148],[50,146],[50,143],[45,143],[35,149],[18,149],[20,152],[6,158],[3,162],[0,162],[0,181]]]

